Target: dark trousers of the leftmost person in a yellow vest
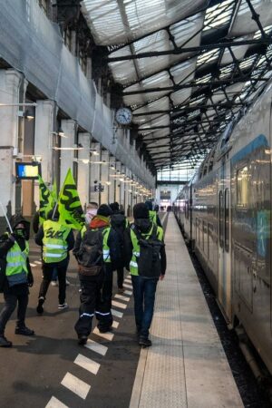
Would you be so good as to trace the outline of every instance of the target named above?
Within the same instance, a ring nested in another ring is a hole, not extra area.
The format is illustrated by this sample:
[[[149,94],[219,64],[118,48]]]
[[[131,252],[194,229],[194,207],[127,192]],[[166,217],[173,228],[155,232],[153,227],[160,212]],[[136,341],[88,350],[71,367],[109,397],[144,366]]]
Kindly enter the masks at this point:
[[[24,327],[24,319],[26,314],[26,307],[28,304],[28,287],[25,285],[21,292],[10,291],[9,293],[4,293],[5,305],[1,310],[0,314],[0,335],[5,333],[5,325],[15,311],[15,307],[18,302],[17,309],[17,327]]]

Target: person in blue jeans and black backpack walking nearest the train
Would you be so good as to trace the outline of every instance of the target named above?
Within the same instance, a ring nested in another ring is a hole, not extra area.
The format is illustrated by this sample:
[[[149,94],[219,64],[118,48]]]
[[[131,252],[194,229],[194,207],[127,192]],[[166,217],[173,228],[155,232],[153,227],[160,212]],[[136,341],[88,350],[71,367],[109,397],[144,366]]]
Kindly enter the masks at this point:
[[[165,275],[166,254],[163,230],[151,222],[147,206],[136,204],[133,217],[134,221],[125,231],[126,267],[131,272],[139,345],[148,347],[155,293],[158,280]]]

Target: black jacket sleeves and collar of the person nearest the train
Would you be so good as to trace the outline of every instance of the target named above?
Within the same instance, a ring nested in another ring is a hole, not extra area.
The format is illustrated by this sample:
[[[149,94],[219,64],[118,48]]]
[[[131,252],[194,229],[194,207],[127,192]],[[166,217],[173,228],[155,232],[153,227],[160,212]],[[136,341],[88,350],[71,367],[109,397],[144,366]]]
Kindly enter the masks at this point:
[[[137,219],[137,228],[142,234],[147,234],[151,230],[151,221],[149,219]],[[125,266],[127,270],[130,270],[130,262],[133,251],[133,245],[131,241],[131,226],[126,228],[124,233],[124,250],[125,250]],[[160,248],[160,268],[161,275],[165,275],[166,253],[164,245]]]

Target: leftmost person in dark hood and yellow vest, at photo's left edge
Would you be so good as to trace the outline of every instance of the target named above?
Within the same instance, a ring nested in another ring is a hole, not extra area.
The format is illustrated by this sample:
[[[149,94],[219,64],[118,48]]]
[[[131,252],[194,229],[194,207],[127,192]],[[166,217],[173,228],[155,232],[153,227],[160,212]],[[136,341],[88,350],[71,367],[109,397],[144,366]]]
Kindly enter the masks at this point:
[[[26,327],[24,320],[28,305],[28,287],[34,284],[29,265],[30,224],[21,215],[10,219],[13,233],[5,233],[0,238],[1,291],[4,292],[5,305],[0,313],[0,347],[11,347],[12,342],[5,338],[5,325],[12,316],[16,305],[16,335],[34,335],[34,330]]]

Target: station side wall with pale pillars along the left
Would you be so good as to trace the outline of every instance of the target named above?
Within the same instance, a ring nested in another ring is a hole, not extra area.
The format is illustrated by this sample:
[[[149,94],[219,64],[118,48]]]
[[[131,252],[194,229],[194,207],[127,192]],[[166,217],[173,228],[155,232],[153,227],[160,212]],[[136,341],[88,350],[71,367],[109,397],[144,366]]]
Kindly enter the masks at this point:
[[[6,63],[0,69],[0,199],[6,213],[22,211],[31,218],[38,208],[38,182],[19,180],[15,174],[15,162],[36,160],[41,162],[42,177],[49,188],[56,181],[60,189],[71,168],[83,207],[90,201],[118,201],[130,215],[136,202],[148,199],[155,191],[155,179],[136,151],[130,129],[118,128],[114,112],[97,91],[92,77],[83,74],[77,58],[65,48],[56,24],[47,19],[39,5],[26,2],[27,13],[23,13],[24,2],[15,0],[17,9],[9,3],[0,16],[0,54]],[[22,34],[16,26],[19,20]],[[14,38],[13,30],[19,38],[15,47],[8,47]],[[38,60],[35,55],[23,55],[21,61],[22,54],[29,53],[24,46],[27,35],[33,34],[36,47],[44,48],[44,53]],[[22,41],[20,35],[24,36]],[[47,43],[46,38],[50,39]],[[56,89],[52,90],[47,89],[48,73],[45,75],[41,69],[43,63],[48,66],[48,51],[63,64],[57,73],[58,81],[51,84]],[[66,88],[62,89],[62,83]],[[80,104],[75,106],[78,98]],[[102,191],[95,190],[99,184]],[[0,215],[3,227],[5,220]]]

